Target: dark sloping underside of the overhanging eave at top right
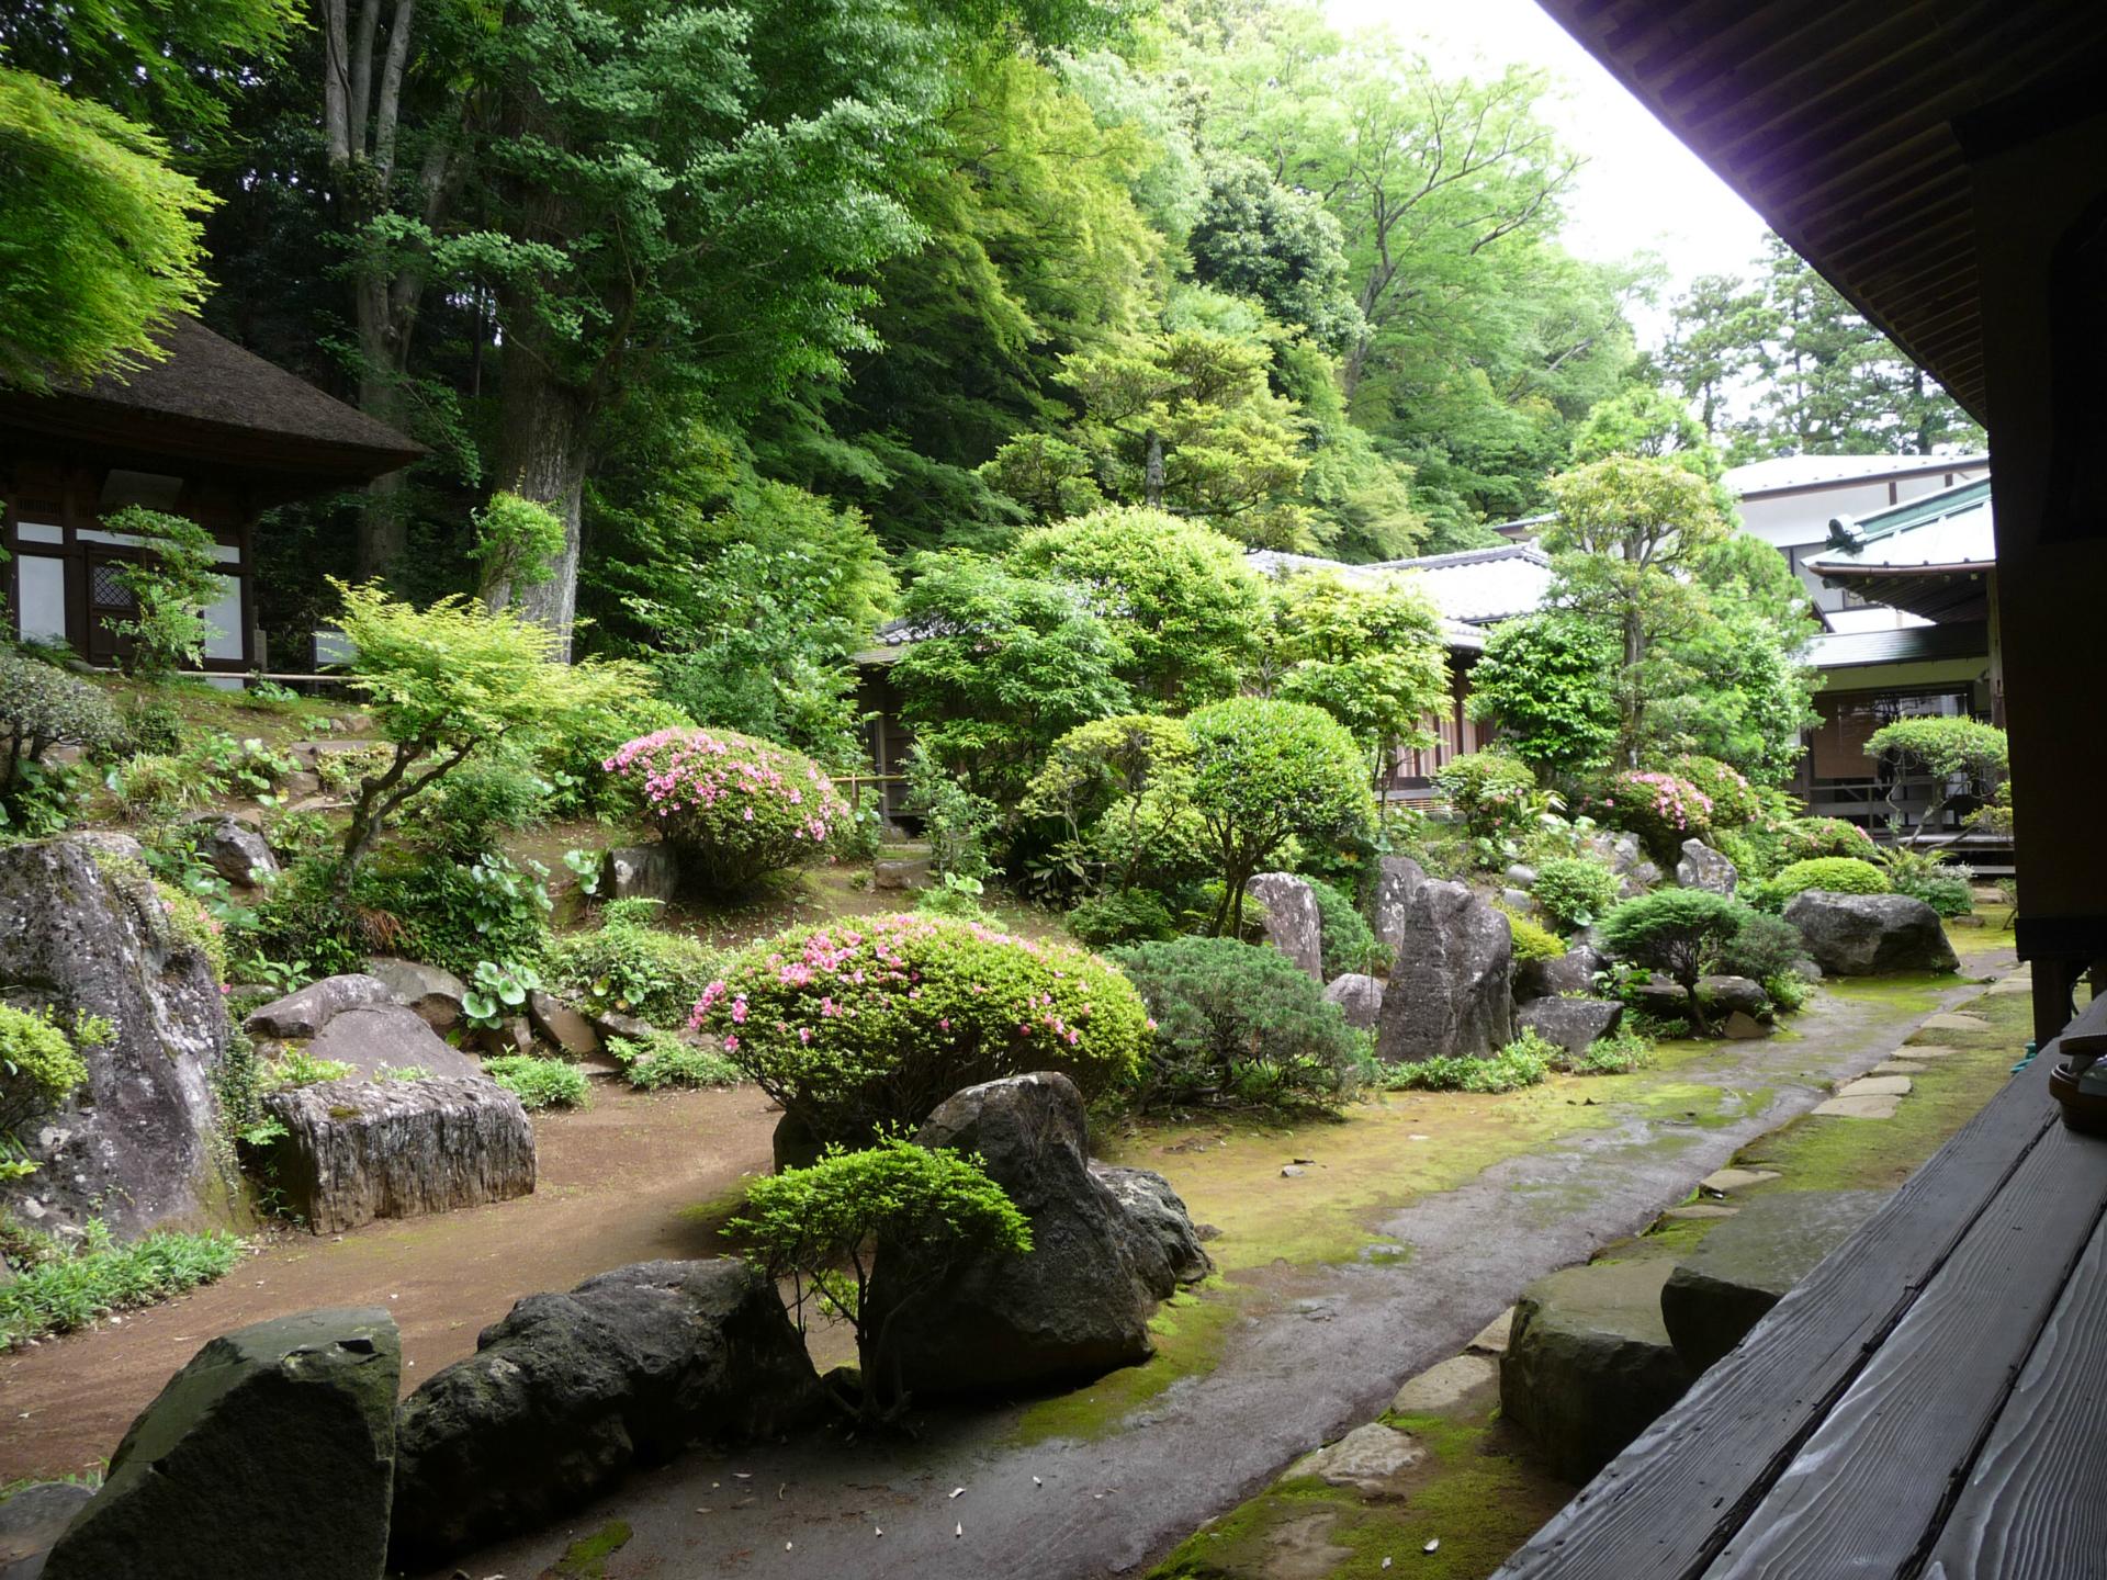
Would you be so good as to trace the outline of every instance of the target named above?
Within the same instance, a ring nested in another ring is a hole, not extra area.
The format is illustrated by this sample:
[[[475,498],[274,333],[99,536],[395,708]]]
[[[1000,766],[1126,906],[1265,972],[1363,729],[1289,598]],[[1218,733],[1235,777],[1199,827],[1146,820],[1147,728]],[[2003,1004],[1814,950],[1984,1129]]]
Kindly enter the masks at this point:
[[[1538,0],[1903,352],[1989,421],[1957,122],[2094,103],[2107,4]]]

